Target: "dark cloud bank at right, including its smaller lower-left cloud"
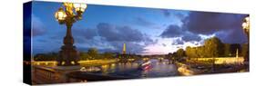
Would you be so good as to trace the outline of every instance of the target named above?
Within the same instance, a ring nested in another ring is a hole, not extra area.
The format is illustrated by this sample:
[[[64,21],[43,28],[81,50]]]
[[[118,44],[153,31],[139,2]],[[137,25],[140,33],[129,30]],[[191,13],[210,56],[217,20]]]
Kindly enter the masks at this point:
[[[181,37],[184,42],[199,42],[201,40],[199,34],[216,34],[224,43],[245,43],[247,42],[246,35],[241,29],[245,15],[190,12],[182,20],[182,27],[169,25],[160,36],[163,38]]]

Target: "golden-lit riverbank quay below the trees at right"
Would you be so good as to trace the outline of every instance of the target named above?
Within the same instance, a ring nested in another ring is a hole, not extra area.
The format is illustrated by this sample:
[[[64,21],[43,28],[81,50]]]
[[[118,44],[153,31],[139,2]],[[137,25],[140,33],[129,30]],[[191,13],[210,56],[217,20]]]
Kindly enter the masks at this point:
[[[212,64],[195,62],[175,62],[180,75],[197,75],[226,72],[249,72],[249,65],[246,64]]]

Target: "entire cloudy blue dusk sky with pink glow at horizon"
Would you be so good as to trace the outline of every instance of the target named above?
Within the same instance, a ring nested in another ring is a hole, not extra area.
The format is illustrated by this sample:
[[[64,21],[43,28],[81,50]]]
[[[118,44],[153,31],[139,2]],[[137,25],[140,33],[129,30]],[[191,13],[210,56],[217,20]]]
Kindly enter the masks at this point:
[[[61,3],[34,2],[32,8],[34,53],[58,52],[66,25],[54,14]],[[220,14],[172,9],[87,5],[83,19],[73,24],[80,52],[95,47],[100,53],[165,54],[186,46],[198,46],[217,36],[222,43],[246,43],[241,22],[246,14]]]

